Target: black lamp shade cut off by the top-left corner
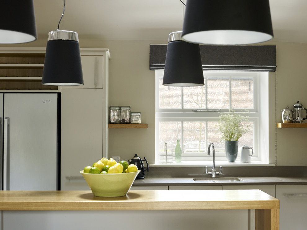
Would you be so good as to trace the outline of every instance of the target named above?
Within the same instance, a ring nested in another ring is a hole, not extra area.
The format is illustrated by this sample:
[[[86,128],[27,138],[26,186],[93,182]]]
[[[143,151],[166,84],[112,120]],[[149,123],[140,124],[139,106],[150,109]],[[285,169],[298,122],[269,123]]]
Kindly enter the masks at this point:
[[[33,0],[1,1],[0,44],[33,42],[37,39]]]

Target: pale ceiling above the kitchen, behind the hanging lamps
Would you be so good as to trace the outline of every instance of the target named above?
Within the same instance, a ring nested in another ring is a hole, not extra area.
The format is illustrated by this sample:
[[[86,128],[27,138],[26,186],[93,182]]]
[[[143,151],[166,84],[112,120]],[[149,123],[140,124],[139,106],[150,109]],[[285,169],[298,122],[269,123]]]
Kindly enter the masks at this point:
[[[186,0],[184,1],[186,2]],[[307,43],[307,1],[269,0],[273,41]],[[38,39],[56,30],[64,0],[34,0]],[[180,0],[66,0],[60,30],[79,40],[163,40],[182,30]]]

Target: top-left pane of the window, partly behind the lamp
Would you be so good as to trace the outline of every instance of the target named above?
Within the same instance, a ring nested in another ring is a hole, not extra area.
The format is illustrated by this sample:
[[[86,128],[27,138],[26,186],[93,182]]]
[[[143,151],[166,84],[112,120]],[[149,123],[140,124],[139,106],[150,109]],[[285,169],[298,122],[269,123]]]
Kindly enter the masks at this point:
[[[163,86],[163,78],[159,78],[159,107],[181,108],[181,87]]]

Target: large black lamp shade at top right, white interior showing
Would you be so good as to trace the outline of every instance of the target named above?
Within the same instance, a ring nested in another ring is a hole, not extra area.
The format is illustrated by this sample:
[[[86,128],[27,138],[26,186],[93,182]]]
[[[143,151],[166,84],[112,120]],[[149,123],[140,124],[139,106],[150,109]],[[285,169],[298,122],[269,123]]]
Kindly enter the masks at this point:
[[[245,45],[273,38],[269,0],[187,0],[182,39]]]

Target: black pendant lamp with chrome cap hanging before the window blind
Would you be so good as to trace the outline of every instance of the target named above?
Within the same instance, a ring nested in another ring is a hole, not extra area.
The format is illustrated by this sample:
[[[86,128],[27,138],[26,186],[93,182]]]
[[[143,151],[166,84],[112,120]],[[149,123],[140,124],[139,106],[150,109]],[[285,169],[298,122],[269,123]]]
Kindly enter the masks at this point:
[[[199,44],[182,41],[181,32],[170,33],[165,59],[164,86],[203,86]]]

